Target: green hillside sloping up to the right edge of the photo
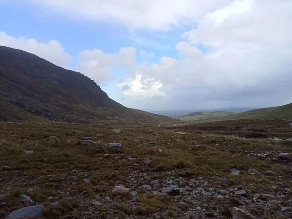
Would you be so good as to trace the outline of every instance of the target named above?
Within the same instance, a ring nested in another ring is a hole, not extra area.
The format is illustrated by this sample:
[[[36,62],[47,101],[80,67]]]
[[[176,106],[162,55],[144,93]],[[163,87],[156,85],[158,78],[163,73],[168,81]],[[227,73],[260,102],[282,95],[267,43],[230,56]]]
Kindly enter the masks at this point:
[[[222,119],[292,119],[292,103],[279,107],[250,110]]]

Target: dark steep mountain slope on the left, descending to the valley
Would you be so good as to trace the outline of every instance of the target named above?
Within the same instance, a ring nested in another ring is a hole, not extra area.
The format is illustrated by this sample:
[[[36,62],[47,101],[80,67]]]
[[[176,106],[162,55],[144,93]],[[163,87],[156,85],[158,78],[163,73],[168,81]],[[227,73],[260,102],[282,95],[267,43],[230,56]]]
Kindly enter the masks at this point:
[[[128,109],[87,76],[21,50],[0,46],[0,120],[42,117],[90,123],[108,119],[170,122],[172,118]]]

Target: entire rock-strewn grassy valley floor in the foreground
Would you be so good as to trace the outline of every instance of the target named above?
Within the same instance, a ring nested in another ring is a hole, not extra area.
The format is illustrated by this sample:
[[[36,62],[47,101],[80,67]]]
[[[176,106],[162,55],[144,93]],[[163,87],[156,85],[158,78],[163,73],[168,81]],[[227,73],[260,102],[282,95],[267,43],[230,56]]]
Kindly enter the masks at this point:
[[[289,219],[290,123],[2,123],[0,218]]]

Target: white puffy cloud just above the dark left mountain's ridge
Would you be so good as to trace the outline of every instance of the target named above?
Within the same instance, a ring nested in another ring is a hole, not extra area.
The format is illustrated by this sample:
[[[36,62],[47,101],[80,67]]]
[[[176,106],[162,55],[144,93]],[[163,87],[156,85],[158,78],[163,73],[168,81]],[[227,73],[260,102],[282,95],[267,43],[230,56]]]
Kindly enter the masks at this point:
[[[64,68],[68,67],[72,61],[71,55],[66,53],[62,45],[56,40],[44,43],[32,38],[16,38],[7,35],[5,32],[0,32],[0,45],[33,53]]]

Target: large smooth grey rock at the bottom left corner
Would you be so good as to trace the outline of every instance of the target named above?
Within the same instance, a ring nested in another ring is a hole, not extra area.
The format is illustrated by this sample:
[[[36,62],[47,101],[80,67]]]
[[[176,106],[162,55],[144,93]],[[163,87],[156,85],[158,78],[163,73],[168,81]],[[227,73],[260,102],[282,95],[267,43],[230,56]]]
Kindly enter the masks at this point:
[[[43,205],[29,206],[11,212],[5,219],[39,219],[44,209]]]

